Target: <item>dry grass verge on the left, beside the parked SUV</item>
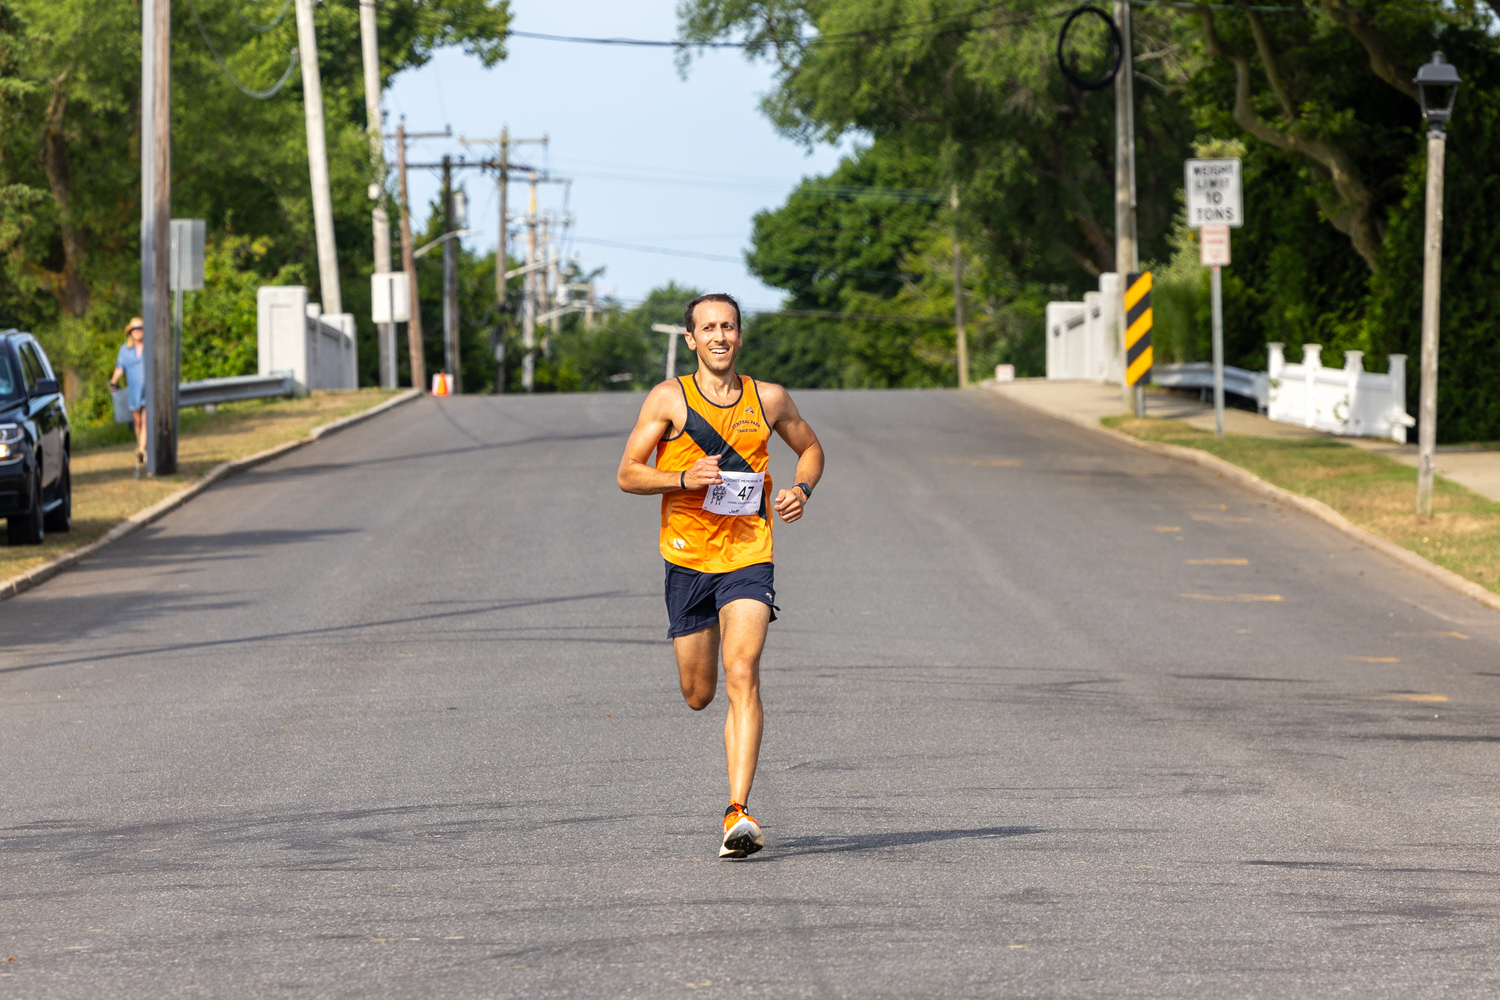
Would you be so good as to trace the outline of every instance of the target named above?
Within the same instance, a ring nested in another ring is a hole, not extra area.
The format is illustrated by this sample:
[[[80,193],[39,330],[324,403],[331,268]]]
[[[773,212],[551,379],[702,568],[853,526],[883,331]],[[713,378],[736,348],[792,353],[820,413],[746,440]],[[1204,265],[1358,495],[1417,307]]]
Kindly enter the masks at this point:
[[[303,438],[318,424],[369,409],[394,396],[382,388],[312,393],[303,399],[222,403],[218,412],[182,412],[177,474],[135,478],[135,435],[126,426],[74,427],[74,529],[40,546],[0,544],[0,580],[87,544],[138,510],[176,493],[231,459]]]

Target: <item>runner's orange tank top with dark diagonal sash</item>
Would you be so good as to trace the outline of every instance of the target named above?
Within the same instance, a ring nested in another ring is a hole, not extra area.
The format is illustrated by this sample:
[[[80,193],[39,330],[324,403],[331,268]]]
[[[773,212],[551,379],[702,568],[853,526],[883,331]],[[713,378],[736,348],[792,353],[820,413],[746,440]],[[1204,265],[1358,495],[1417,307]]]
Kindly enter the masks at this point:
[[[720,406],[708,402],[690,375],[676,379],[687,400],[687,424],[672,438],[657,442],[657,468],[687,469],[699,459],[717,454],[726,472],[766,472],[771,427],[760,406],[754,379],[740,376],[740,400]],[[662,495],[662,558],[699,573],[729,573],[758,562],[771,562],[771,475],[765,477],[758,514],[714,514],[704,510],[708,489],[672,490]]]

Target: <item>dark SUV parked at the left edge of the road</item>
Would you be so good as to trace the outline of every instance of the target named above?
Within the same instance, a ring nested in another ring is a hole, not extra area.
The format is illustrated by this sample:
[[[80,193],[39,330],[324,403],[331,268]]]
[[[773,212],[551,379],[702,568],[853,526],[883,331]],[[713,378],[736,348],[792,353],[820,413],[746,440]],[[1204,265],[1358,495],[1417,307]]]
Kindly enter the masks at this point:
[[[0,517],[12,546],[72,526],[70,453],[68,406],[42,345],[30,333],[0,333]]]

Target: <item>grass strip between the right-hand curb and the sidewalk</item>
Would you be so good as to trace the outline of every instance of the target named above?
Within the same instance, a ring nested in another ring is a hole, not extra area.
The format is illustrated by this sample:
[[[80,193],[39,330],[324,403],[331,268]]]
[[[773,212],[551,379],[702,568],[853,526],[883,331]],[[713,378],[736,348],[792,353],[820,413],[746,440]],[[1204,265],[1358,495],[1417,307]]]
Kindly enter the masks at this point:
[[[1268,483],[1320,499],[1365,531],[1500,594],[1500,504],[1437,477],[1432,517],[1416,516],[1416,469],[1338,441],[1250,438],[1180,420],[1107,417],[1134,438],[1200,448]]]

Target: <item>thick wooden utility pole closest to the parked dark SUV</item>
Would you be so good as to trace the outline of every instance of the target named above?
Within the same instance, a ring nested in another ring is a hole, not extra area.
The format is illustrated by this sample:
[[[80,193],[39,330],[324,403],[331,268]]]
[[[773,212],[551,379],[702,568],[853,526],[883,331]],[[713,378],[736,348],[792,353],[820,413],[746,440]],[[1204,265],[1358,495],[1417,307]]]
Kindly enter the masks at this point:
[[[146,474],[177,471],[177,346],[168,309],[172,219],[172,9],[141,3],[141,321]]]

